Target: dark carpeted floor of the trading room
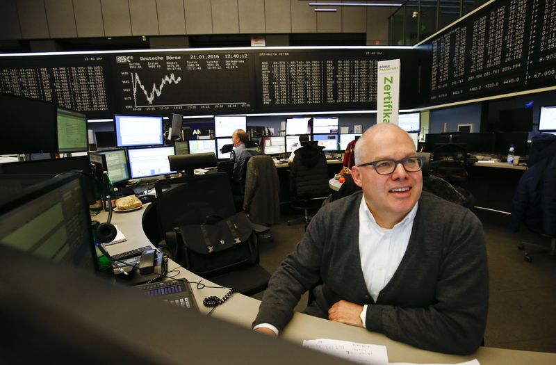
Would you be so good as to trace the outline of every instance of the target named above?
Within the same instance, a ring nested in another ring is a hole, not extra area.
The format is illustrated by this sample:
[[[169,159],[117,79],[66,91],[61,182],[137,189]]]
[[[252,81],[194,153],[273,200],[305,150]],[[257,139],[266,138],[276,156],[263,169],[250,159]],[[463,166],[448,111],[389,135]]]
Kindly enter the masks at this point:
[[[288,226],[297,212],[282,206],[282,222],[271,227],[274,241],[261,242],[261,266],[274,272],[304,233],[303,224]],[[517,249],[521,241],[548,246],[548,238],[530,232],[511,232],[507,216],[479,211],[486,235],[489,259],[489,317],[484,335],[486,346],[556,352],[556,259],[546,254],[523,260]],[[263,293],[254,295],[261,299]],[[306,296],[296,310],[306,305]]]

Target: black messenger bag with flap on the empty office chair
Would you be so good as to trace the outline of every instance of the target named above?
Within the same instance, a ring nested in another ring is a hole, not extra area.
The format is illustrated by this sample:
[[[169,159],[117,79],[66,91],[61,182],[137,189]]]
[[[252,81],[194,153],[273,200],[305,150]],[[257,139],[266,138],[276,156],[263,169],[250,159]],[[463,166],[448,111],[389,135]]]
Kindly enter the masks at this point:
[[[244,212],[229,218],[208,217],[202,225],[182,225],[166,233],[177,245],[177,262],[183,268],[212,277],[259,262],[256,235]]]

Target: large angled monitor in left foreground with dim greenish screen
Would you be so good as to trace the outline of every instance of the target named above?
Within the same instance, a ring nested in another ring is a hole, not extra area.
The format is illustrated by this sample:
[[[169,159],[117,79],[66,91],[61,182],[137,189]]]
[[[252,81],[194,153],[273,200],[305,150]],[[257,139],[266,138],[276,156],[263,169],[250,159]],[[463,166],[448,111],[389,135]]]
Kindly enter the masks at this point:
[[[58,175],[0,202],[0,243],[70,266],[97,270],[79,174]],[[39,274],[40,275],[40,274]]]

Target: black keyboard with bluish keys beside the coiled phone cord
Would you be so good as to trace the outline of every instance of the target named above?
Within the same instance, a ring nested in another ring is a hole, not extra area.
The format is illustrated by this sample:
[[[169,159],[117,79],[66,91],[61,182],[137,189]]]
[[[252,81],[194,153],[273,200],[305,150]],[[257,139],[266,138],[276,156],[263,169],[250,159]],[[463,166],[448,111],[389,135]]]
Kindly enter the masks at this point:
[[[191,291],[191,286],[183,280],[170,280],[152,284],[142,284],[136,288],[147,295],[160,296],[162,300],[181,308],[197,309],[197,302]]]

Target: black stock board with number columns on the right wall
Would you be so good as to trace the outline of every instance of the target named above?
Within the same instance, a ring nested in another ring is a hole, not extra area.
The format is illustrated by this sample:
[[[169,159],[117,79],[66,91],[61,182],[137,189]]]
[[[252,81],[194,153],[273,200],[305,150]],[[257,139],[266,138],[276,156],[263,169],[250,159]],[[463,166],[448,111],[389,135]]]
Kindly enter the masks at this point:
[[[423,44],[431,104],[556,85],[556,1],[495,1]]]

